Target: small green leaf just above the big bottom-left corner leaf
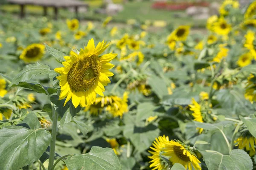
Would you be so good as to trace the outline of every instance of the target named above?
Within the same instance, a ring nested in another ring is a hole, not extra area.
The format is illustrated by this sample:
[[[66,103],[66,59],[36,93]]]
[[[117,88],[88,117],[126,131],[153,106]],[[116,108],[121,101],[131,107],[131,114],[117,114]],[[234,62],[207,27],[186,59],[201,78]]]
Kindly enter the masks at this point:
[[[23,124],[28,125],[30,129],[39,129],[39,128],[41,128],[41,124],[38,120],[38,117],[33,112],[29,113],[23,119],[23,121],[19,123],[19,125],[22,125],[22,126],[23,126]]]

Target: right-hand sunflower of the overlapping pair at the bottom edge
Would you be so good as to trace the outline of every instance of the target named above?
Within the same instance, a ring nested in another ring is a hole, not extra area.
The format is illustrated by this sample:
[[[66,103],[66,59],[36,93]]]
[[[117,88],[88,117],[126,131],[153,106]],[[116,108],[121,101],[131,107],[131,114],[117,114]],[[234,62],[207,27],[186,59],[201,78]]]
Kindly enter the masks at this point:
[[[171,140],[170,142],[165,142],[163,151],[165,151],[163,155],[171,157],[169,160],[172,164],[180,163],[185,169],[192,170],[193,166],[195,170],[201,170],[199,165],[201,162],[196,158],[195,153],[187,149],[186,145],[184,146]]]

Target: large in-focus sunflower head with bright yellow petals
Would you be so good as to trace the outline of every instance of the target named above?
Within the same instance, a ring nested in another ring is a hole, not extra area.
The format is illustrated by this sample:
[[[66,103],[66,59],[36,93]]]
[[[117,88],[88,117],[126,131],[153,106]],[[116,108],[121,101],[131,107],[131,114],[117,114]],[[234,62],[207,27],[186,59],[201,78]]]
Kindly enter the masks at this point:
[[[104,86],[110,83],[108,77],[113,76],[109,69],[114,65],[109,63],[117,54],[102,54],[110,43],[99,42],[94,46],[94,40],[89,40],[87,46],[76,54],[71,51],[71,57],[65,56],[65,62],[62,62],[64,67],[55,68],[54,71],[61,74],[57,77],[60,80],[61,94],[60,100],[66,100],[64,105],[72,99],[72,103],[77,108],[80,104],[81,107],[93,102],[96,99],[96,94],[104,96],[102,93],[105,91]]]

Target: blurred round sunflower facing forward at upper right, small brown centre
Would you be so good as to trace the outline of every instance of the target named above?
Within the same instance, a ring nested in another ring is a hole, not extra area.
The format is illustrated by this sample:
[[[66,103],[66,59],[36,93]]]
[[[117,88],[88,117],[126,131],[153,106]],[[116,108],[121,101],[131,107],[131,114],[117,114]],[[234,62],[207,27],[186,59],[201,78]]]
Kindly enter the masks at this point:
[[[231,29],[231,24],[228,24],[224,18],[220,18],[213,26],[213,31],[220,35],[229,34]]]

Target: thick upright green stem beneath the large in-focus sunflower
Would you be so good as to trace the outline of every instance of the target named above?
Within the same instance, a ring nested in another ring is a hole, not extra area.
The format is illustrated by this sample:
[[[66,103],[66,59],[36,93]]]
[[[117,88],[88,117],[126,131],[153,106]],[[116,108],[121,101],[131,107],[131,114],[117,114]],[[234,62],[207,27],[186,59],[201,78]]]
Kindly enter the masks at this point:
[[[52,102],[51,102],[52,104]],[[53,105],[52,105],[53,108]],[[52,139],[50,142],[50,154],[49,154],[49,165],[48,169],[51,170],[54,163],[54,155],[55,155],[55,142],[57,136],[57,122],[58,122],[58,113],[55,110],[52,110]]]

